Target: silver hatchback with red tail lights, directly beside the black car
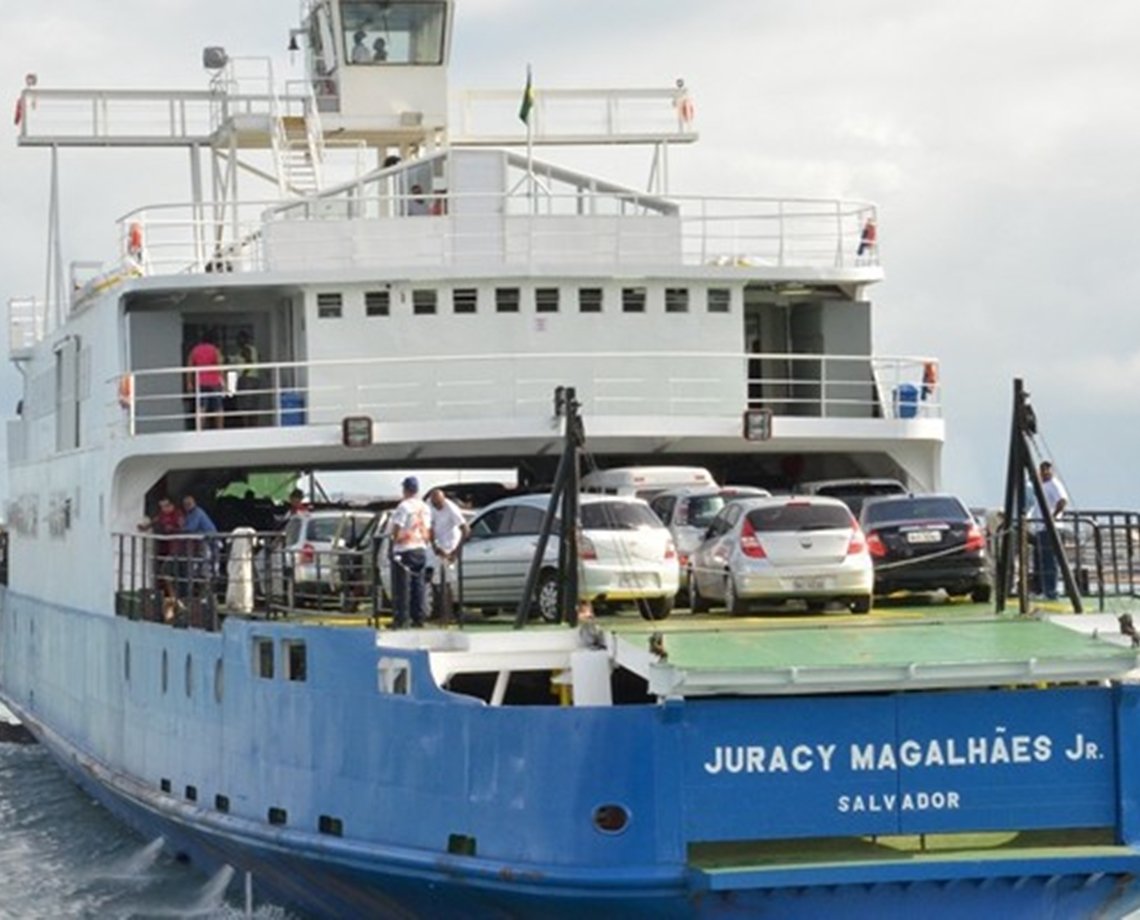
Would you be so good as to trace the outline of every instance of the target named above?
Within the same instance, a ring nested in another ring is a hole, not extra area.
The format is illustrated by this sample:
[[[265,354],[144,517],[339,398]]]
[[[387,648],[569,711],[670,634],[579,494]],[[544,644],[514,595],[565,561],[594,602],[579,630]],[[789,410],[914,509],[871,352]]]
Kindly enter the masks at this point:
[[[690,562],[692,608],[829,601],[855,613],[871,609],[874,570],[863,531],[837,498],[792,496],[732,502],[709,526]]]

